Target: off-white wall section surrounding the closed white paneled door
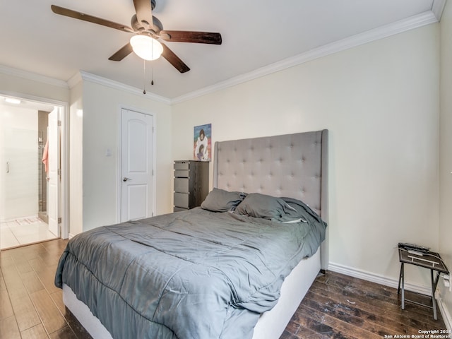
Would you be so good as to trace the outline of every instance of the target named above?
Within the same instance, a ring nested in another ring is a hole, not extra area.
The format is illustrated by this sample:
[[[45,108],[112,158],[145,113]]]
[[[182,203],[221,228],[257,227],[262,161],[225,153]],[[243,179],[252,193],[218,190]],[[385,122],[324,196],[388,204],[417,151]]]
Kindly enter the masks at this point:
[[[83,201],[78,215],[83,215],[83,231],[119,222],[118,155],[120,107],[153,114],[156,141],[156,210],[155,214],[171,211],[171,107],[142,94],[133,94],[90,80],[83,81],[83,128],[78,127],[83,140],[83,192],[76,201]],[[72,112],[71,112],[72,114]],[[106,150],[112,156],[107,157]],[[73,166],[71,162],[71,172]],[[80,167],[78,165],[78,167]],[[79,175],[79,174],[78,174]],[[83,194],[83,198],[80,197]],[[72,196],[73,197],[73,196]],[[73,211],[77,213],[77,211]],[[72,226],[71,226],[72,227]]]

